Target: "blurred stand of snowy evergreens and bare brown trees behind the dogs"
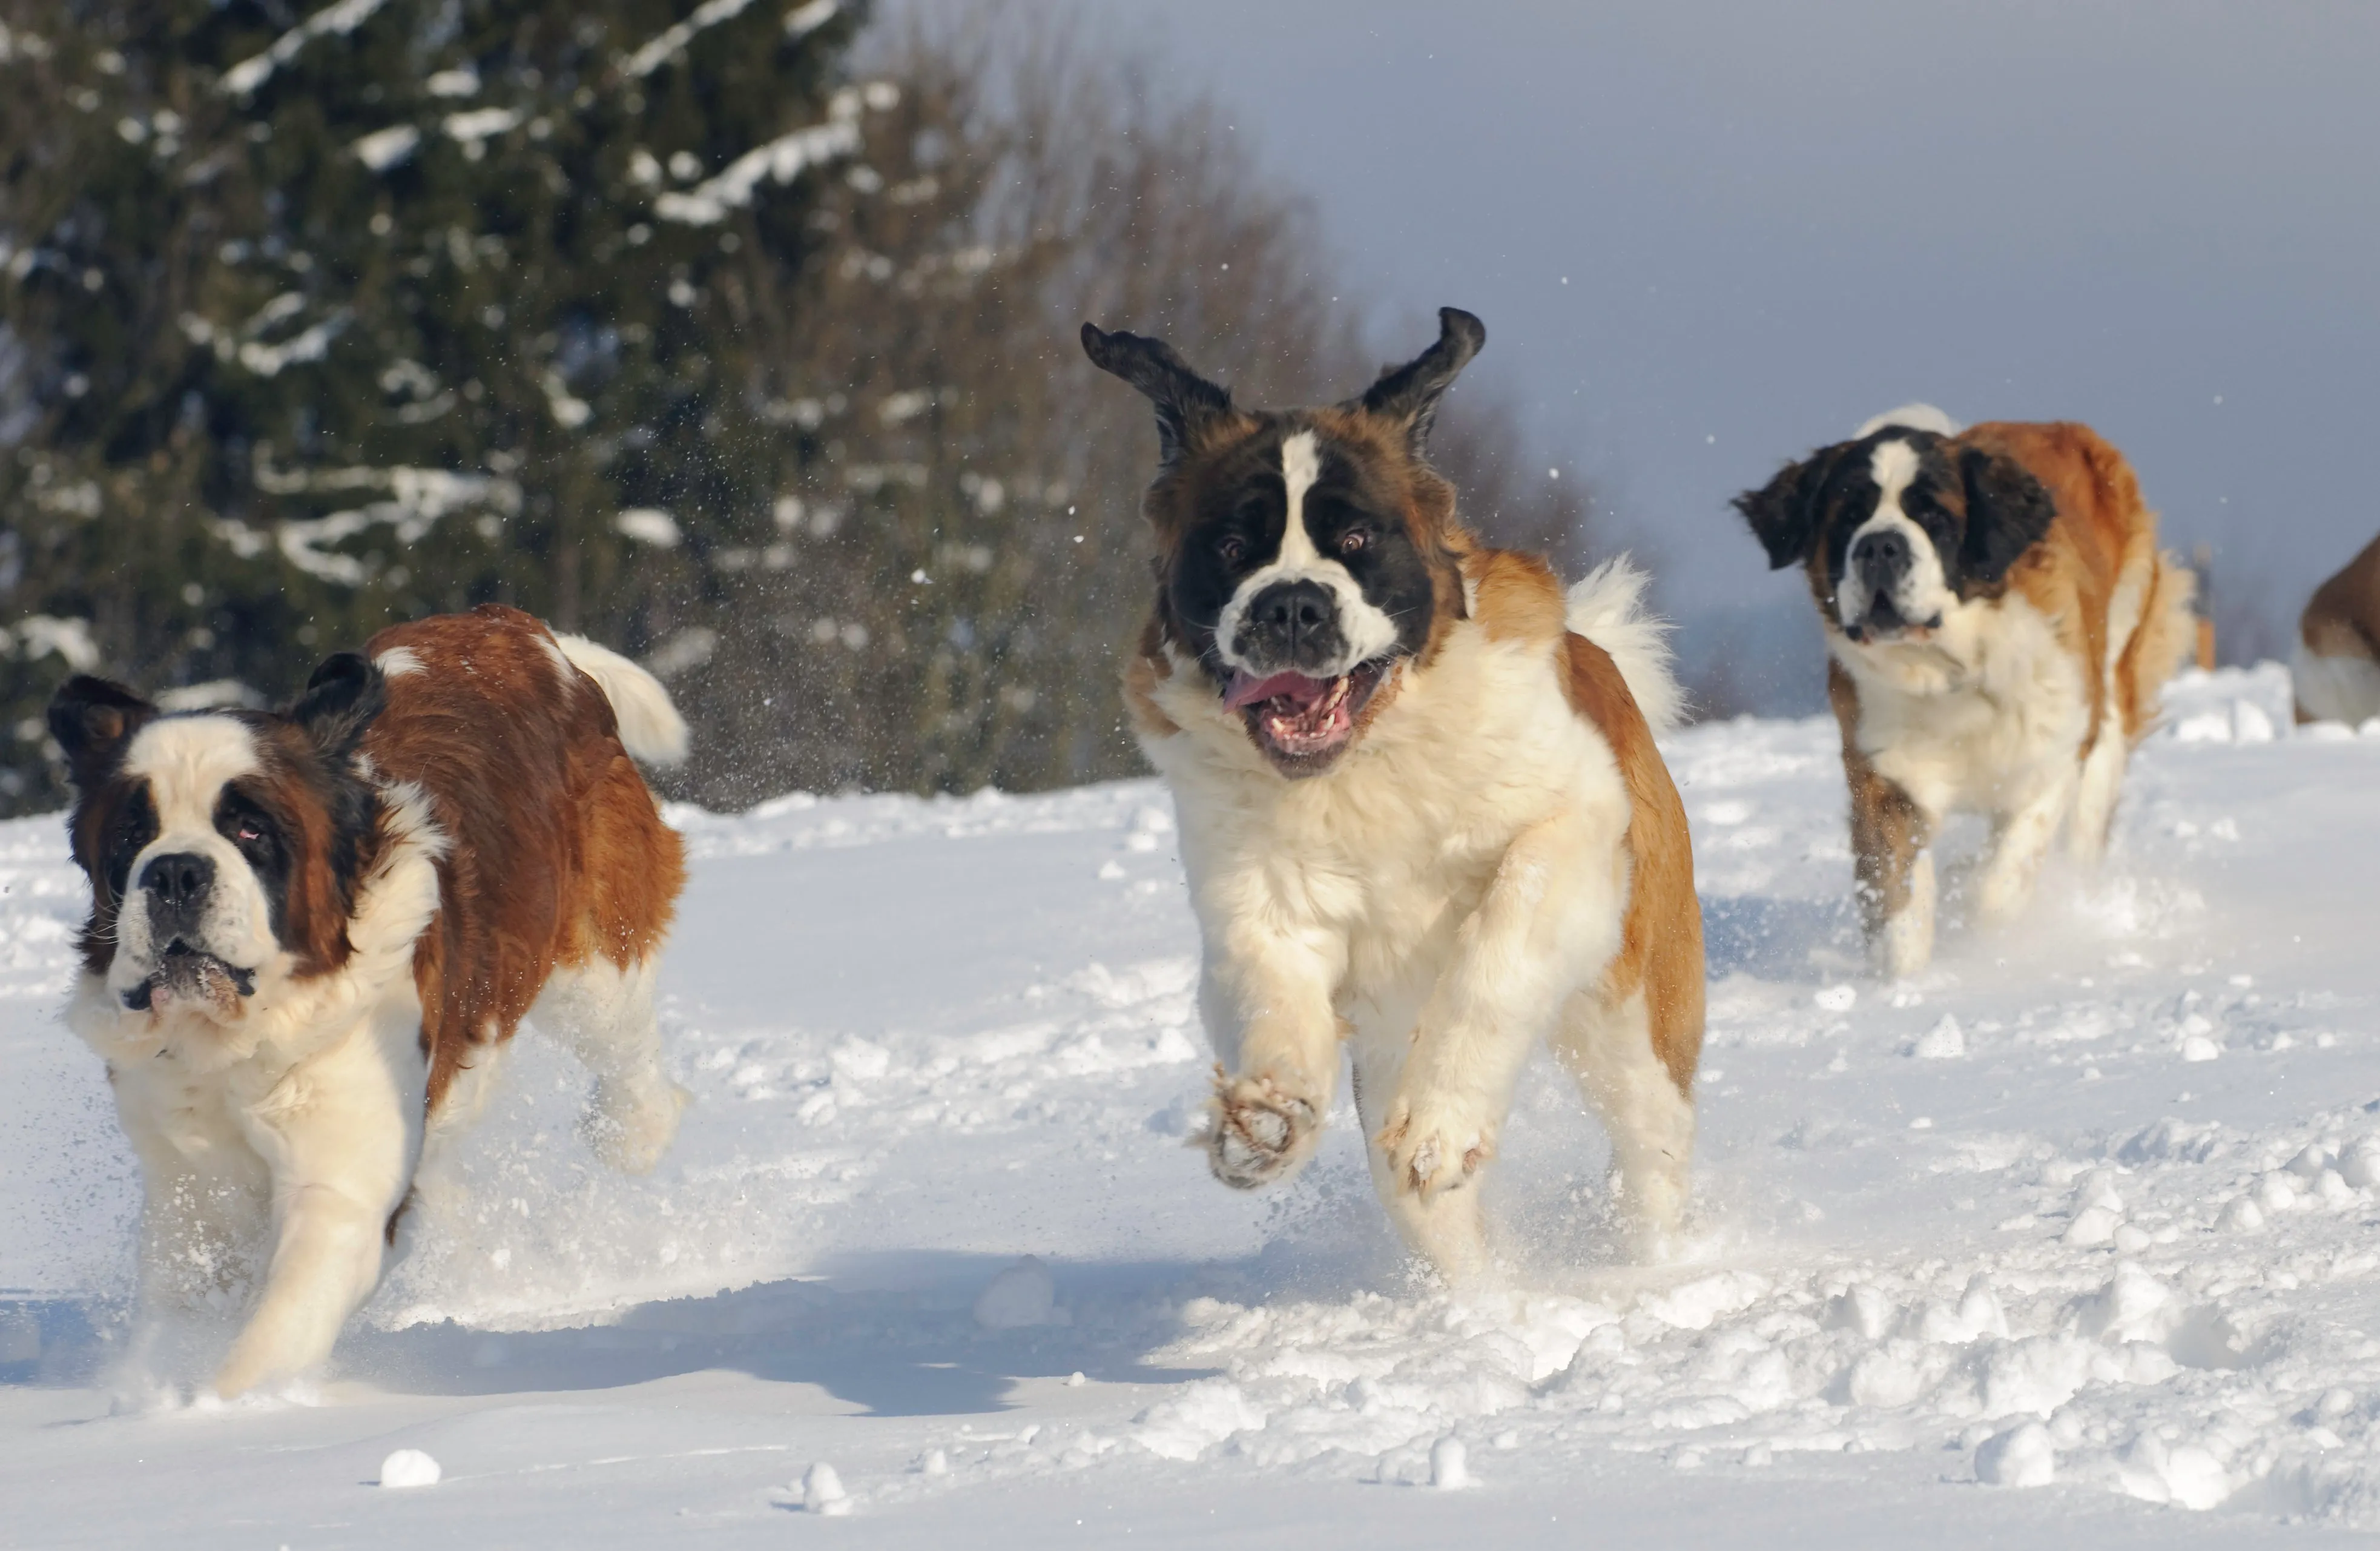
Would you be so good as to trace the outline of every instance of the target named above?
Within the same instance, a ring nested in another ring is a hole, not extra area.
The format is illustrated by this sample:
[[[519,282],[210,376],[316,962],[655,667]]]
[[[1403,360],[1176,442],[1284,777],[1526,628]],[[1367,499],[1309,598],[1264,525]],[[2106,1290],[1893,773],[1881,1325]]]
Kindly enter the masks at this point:
[[[1076,326],[1242,403],[1376,360],[1311,212],[1078,19],[0,0],[0,812],[64,801],[67,672],[264,703],[483,600],[659,672],[714,808],[1135,772],[1154,434]],[[1457,395],[1440,460],[1576,565],[1509,426]]]

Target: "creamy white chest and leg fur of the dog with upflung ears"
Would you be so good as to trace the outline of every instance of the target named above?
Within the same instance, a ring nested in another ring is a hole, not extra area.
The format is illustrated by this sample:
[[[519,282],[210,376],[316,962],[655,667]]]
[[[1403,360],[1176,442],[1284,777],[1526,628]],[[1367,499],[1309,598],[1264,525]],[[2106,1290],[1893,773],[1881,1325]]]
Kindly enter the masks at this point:
[[[1604,577],[1587,603],[1626,586]],[[1461,622],[1428,669],[1395,672],[1361,741],[1302,781],[1250,746],[1192,662],[1154,689],[1178,731],[1145,748],[1180,812],[1200,1001],[1228,1067],[1214,1167],[1233,1184],[1295,1172],[1345,1039],[1390,1217],[1447,1277],[1473,1277],[1488,1265],[1478,1170],[1530,1046],[1559,1034],[1656,1241],[1683,1206],[1690,1103],[1609,1077],[1652,1060],[1642,1017],[1599,993],[1628,903],[1611,748],[1571,710],[1542,641]],[[1647,1172],[1647,1158],[1664,1163]]]

